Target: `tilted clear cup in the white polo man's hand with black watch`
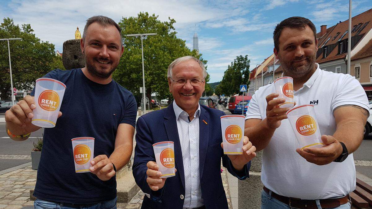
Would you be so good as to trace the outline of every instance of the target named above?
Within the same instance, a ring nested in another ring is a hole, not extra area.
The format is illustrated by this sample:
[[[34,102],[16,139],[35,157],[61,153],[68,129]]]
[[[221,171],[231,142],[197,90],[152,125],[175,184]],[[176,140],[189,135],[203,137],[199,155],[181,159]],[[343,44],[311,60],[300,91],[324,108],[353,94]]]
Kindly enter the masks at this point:
[[[323,147],[313,105],[293,107],[286,113],[301,149]]]

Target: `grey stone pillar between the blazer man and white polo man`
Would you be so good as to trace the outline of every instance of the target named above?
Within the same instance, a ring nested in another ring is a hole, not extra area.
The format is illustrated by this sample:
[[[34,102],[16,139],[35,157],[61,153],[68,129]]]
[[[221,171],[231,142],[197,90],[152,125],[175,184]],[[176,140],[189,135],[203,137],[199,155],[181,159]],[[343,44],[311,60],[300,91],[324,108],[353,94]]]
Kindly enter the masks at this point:
[[[256,154],[257,156],[251,162],[249,178],[238,181],[238,205],[241,209],[261,207],[263,187],[261,182],[262,151]]]

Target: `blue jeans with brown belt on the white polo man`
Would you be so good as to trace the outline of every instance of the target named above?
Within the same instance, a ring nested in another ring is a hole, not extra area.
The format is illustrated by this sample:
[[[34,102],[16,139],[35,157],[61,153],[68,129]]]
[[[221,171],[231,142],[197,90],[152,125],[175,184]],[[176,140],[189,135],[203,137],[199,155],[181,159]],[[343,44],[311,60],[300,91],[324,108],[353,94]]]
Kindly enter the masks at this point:
[[[317,201],[318,209],[322,209],[322,207],[320,206],[319,200],[315,200],[315,201]],[[270,191],[270,194],[267,194],[264,190],[262,190],[262,192],[261,192],[261,209],[272,209],[272,208],[275,208],[275,209],[290,209],[291,207],[289,207],[289,205],[287,205],[285,203],[282,203],[279,200],[272,197],[271,196],[271,191]],[[350,204],[350,202],[348,202],[346,204],[340,205],[340,206],[338,206],[336,208],[333,208],[333,209],[350,209],[350,208],[351,208],[351,204]]]

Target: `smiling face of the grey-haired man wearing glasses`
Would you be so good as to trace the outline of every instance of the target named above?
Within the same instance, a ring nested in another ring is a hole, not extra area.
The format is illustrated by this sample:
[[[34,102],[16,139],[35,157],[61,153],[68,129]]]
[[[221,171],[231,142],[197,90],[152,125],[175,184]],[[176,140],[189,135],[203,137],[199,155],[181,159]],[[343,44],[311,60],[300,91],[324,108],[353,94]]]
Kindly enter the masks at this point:
[[[203,82],[200,86],[192,86],[189,80],[186,81],[185,85],[179,85],[172,81],[180,78],[185,80],[196,78],[203,80]],[[168,78],[168,84],[169,91],[172,93],[176,104],[187,113],[195,112],[205,87],[203,71],[199,63],[195,60],[186,60],[174,66],[172,78]]]

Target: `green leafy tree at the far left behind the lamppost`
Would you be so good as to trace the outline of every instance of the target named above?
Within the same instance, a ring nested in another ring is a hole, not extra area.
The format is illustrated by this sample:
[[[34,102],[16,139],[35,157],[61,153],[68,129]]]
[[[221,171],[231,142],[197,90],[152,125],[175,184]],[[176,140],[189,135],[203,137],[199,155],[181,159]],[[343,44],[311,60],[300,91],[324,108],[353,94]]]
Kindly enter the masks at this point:
[[[30,24],[15,25],[13,19],[4,18],[0,25],[1,38],[22,38],[10,41],[13,87],[31,90],[37,78],[54,68],[63,68],[61,57],[55,56],[54,44],[43,42],[35,36]],[[0,41],[0,92],[1,98],[9,96],[10,70],[8,46]]]

